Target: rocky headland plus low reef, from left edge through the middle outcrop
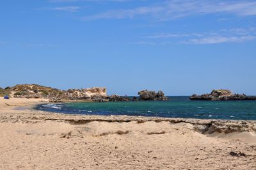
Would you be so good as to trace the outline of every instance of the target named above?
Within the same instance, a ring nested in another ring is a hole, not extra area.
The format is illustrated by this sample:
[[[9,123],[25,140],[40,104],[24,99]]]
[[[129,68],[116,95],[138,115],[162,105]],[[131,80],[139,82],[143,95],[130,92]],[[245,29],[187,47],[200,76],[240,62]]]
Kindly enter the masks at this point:
[[[163,91],[143,90],[138,93],[139,97],[127,97],[107,95],[106,88],[81,88],[61,90],[40,86],[38,84],[18,84],[13,87],[0,88],[0,96],[8,95],[15,98],[47,98],[51,102],[84,101],[84,102],[117,102],[138,100],[169,100]]]

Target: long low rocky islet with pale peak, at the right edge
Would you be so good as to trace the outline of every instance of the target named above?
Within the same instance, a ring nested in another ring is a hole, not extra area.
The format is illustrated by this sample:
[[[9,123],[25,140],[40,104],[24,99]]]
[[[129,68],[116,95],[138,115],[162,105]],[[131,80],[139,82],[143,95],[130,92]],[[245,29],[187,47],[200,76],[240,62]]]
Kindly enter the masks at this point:
[[[234,94],[228,89],[214,89],[210,94],[192,95],[190,100],[256,100],[256,97],[248,97],[244,94]]]

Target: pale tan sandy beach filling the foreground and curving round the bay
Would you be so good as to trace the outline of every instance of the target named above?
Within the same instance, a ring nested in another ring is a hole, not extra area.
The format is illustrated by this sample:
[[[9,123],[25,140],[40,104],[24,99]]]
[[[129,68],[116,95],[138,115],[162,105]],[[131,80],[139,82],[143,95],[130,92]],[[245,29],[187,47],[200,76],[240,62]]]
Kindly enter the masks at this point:
[[[40,102],[47,100],[0,99],[0,169],[256,169],[255,121],[31,109]],[[212,122],[218,132],[200,133]]]

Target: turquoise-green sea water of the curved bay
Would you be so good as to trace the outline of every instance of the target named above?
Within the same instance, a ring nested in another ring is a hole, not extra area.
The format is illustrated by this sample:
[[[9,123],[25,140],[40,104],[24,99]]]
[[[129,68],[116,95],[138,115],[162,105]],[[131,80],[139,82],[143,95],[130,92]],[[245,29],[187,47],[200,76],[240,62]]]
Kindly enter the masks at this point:
[[[90,102],[38,105],[36,109],[68,114],[159,116],[256,120],[256,101],[190,101],[188,97],[170,97],[170,101]]]

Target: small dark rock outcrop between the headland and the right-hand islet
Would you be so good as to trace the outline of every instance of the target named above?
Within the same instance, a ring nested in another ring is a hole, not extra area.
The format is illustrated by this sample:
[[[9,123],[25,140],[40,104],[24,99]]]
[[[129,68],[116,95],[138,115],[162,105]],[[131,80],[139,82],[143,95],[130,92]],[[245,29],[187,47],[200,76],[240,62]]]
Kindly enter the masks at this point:
[[[140,95],[140,100],[168,100],[168,97],[164,96],[163,91],[148,91],[147,89],[138,92]]]

